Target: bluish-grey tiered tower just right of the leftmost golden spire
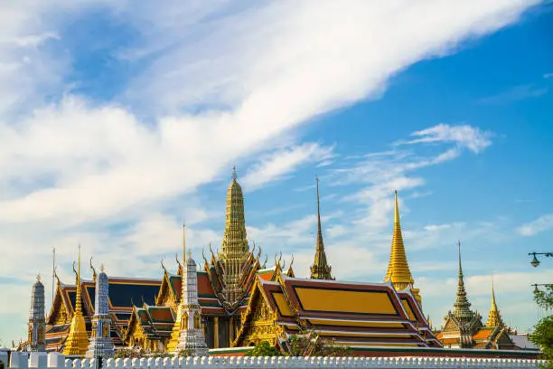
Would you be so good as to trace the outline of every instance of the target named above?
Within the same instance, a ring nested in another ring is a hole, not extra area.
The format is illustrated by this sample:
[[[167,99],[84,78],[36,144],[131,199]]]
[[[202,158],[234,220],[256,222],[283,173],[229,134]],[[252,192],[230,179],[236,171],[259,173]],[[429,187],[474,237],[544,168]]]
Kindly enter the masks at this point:
[[[96,278],[94,317],[92,317],[92,332],[89,340],[87,358],[109,358],[115,355],[115,348],[110,336],[111,318],[109,317],[108,275],[104,266]]]

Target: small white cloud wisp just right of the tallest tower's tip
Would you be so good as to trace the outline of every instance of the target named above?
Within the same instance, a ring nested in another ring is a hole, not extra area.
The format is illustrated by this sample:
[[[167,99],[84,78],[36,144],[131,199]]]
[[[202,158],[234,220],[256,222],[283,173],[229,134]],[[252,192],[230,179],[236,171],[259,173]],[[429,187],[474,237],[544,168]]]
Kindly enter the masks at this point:
[[[242,183],[248,190],[282,179],[298,166],[313,162],[327,162],[333,157],[334,147],[322,147],[317,143],[305,143],[271,153],[248,169]]]

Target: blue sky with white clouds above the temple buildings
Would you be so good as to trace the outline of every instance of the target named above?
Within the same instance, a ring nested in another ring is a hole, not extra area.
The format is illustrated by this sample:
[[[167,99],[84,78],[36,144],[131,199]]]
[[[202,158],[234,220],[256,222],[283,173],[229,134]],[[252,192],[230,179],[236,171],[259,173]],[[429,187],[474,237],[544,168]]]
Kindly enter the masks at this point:
[[[269,264],[294,254],[307,275],[319,175],[334,275],[380,282],[397,189],[436,326],[457,240],[484,319],[492,273],[505,321],[527,331],[543,314],[530,284],[553,260],[532,269],[527,254],[553,235],[550,4],[23,3],[0,15],[6,343],[24,335],[52,247],[66,282],[79,242],[108,274],[159,277],[185,219],[202,260],[232,166]]]

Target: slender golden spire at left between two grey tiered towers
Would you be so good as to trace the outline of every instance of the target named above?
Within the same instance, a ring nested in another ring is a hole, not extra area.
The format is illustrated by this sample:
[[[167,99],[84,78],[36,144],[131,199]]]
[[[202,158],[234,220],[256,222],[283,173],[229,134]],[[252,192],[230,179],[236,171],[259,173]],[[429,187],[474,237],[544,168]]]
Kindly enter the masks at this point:
[[[73,313],[73,317],[71,319],[70,334],[65,342],[63,355],[85,355],[89,345],[89,336],[87,335],[85,319],[82,316],[82,304],[80,298],[80,246],[76,286],[77,293],[75,296],[75,312]]]

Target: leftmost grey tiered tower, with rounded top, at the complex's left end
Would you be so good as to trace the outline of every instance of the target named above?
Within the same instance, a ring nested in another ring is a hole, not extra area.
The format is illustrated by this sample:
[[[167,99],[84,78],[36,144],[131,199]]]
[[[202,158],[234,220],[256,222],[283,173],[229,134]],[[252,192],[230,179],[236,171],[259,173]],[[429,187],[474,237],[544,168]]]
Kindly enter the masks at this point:
[[[29,351],[46,350],[46,318],[44,317],[44,285],[40,274],[36,277],[31,293],[29,312]]]

